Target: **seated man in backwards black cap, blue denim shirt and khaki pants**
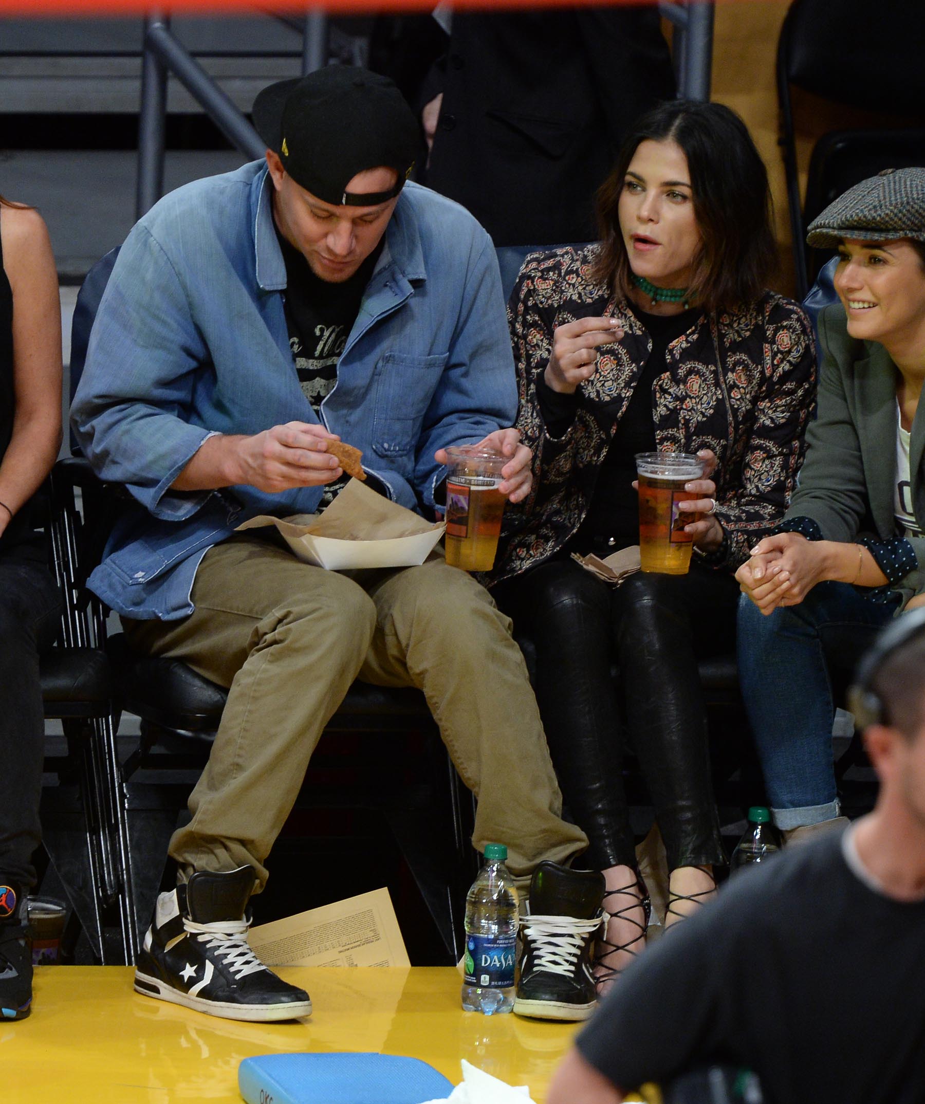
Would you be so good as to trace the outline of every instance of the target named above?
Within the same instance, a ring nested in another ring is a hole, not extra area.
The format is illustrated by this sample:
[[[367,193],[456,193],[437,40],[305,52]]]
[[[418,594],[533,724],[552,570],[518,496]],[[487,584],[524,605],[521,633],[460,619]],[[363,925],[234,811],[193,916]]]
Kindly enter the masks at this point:
[[[321,70],[262,92],[254,123],[265,160],[164,197],[129,234],[73,416],[138,503],[89,585],[136,651],[228,689],[136,989],[276,1020],[311,1004],[251,952],[247,900],[358,676],[424,691],[479,794],[475,846],[507,843],[521,884],[586,839],[561,817],[510,622],[470,575],[434,555],[348,576],[235,531],[325,509],[349,478],[338,439],[368,487],[430,517],[449,446],[502,454],[511,501],[531,482],[491,240],[406,181],[417,125],[394,85]]]

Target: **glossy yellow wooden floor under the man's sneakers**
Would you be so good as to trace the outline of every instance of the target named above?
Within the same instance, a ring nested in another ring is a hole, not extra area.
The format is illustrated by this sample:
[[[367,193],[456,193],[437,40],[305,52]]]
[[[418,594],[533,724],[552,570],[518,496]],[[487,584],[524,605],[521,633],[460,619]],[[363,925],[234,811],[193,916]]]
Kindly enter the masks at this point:
[[[313,1015],[237,1023],[141,997],[124,966],[42,966],[32,1016],[0,1021],[3,1104],[241,1104],[237,1066],[252,1054],[381,1051],[422,1058],[457,1084],[459,1060],[529,1085],[542,1104],[575,1025],[459,1008],[453,967],[280,969],[308,989]]]

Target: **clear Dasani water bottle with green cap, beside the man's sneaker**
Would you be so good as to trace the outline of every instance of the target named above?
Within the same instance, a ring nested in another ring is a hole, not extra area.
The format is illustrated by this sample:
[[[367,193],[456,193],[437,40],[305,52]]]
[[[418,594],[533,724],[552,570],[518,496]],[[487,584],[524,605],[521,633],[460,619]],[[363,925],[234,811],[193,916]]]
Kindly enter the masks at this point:
[[[507,858],[503,843],[487,843],[485,866],[466,898],[462,1008],[467,1012],[492,1016],[514,1007],[518,909]]]

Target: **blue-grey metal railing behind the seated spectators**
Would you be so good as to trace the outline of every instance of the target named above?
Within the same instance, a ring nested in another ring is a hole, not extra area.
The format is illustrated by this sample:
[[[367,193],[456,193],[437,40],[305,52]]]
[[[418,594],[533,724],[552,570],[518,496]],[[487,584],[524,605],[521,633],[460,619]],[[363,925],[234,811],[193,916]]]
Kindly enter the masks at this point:
[[[659,11],[674,28],[678,95],[709,99],[713,66],[713,0],[659,0]],[[278,17],[302,32],[301,72],[328,64],[333,32],[320,9],[299,23]],[[245,116],[170,30],[169,17],[155,12],[145,20],[141,67],[141,108],[138,121],[138,181],[136,217],[141,217],[163,193],[167,82],[173,74],[224,136],[249,158],[263,157],[265,145]]]

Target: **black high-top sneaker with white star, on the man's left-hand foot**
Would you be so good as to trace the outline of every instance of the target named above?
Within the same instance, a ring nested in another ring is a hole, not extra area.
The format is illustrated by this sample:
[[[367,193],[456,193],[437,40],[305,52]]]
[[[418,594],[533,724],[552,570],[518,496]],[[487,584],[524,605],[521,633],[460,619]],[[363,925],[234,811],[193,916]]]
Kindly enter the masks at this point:
[[[228,1020],[291,1020],[311,1000],[277,977],[247,945],[254,871],[198,871],[161,893],[135,964],[135,990]]]

